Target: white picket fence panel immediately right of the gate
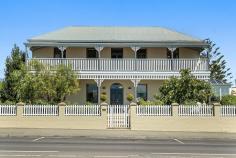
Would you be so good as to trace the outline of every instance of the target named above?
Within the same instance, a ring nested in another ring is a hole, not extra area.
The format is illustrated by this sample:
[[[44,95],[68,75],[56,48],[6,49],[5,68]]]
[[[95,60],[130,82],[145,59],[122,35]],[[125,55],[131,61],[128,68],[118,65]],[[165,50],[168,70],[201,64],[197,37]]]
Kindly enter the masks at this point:
[[[171,116],[171,105],[137,105],[137,116]]]

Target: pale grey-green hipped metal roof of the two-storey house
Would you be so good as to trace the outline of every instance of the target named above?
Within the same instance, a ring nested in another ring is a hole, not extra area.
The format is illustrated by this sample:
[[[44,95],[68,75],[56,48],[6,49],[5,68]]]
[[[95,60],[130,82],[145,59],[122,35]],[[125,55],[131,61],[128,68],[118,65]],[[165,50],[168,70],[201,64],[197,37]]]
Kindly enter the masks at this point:
[[[28,39],[28,45],[134,43],[167,46],[208,45],[198,38],[162,27],[85,27],[72,26]]]

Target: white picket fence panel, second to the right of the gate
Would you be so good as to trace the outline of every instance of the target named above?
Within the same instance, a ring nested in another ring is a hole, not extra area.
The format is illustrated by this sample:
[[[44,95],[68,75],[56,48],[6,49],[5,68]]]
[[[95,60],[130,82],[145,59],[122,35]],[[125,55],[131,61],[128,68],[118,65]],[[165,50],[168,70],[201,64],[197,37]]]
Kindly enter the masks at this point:
[[[179,105],[179,116],[213,116],[212,105]]]

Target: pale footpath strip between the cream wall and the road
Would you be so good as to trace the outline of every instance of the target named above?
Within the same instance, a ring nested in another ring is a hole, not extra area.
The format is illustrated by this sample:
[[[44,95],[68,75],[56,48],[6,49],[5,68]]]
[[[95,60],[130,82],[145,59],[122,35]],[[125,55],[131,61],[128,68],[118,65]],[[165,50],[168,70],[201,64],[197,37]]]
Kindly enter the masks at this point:
[[[73,130],[1,128],[0,137],[83,137],[99,139],[236,139],[236,133],[156,132],[132,130]]]

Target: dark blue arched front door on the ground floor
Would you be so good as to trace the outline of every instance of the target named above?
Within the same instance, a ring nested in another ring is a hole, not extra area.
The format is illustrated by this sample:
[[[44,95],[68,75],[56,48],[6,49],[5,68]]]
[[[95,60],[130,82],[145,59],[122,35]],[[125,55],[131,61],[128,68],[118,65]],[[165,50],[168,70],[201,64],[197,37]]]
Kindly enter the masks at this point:
[[[119,83],[111,85],[110,89],[111,105],[123,105],[123,86]]]

